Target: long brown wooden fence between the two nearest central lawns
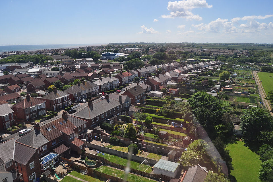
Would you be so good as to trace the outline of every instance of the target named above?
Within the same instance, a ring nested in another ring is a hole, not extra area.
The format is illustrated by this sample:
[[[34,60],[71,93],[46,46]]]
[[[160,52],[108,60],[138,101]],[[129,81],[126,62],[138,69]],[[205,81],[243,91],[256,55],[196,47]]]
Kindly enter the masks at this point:
[[[121,169],[123,171],[125,170],[125,167],[126,167],[124,165],[120,165],[120,164],[116,164],[116,163],[110,162],[107,159],[105,159],[104,157],[100,157],[100,156],[94,155],[92,153],[85,153],[84,156],[85,157],[89,157],[91,159],[100,160],[100,161],[102,161],[102,163],[104,165],[115,167],[115,168]],[[151,178],[151,179],[154,179],[154,180],[157,180],[157,181],[160,179],[160,177],[162,177],[161,179],[163,179],[164,181],[169,181],[171,179],[171,177],[166,176],[166,175],[150,174],[150,173],[146,173],[144,171],[140,171],[140,170],[132,169],[132,168],[130,168],[130,173],[134,173],[134,174],[137,174],[137,175],[148,177],[148,178]]]

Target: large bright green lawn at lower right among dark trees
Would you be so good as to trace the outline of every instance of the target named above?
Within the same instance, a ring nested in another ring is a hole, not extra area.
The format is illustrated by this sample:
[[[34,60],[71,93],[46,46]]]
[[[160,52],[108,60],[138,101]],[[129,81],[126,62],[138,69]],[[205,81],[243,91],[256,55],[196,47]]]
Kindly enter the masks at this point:
[[[257,182],[258,172],[260,170],[259,156],[252,152],[248,147],[244,146],[244,142],[229,144],[227,149],[230,150],[229,155],[232,158],[234,170],[231,171],[237,182]]]

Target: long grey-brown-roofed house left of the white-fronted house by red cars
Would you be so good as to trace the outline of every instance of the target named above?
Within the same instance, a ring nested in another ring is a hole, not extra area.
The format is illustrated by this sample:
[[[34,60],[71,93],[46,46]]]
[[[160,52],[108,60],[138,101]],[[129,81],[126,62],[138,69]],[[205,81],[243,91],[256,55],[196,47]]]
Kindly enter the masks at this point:
[[[99,86],[88,81],[73,85],[63,92],[69,94],[69,99],[71,99],[72,103],[75,103],[86,99],[88,96],[92,96],[92,94],[98,94]]]

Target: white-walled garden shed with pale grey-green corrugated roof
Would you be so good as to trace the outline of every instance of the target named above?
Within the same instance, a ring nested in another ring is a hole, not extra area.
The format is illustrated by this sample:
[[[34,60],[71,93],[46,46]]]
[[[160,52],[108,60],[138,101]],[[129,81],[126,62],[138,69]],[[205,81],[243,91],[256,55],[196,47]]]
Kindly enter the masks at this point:
[[[154,165],[154,174],[163,174],[175,178],[179,171],[179,163],[159,159]]]

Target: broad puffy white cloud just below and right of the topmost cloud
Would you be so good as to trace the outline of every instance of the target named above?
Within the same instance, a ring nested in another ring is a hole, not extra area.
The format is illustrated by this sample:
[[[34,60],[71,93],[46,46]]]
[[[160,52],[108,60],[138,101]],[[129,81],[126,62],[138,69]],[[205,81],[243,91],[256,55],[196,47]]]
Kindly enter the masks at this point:
[[[207,32],[226,32],[226,33],[235,33],[237,32],[236,27],[233,25],[232,22],[228,21],[227,19],[220,19],[218,18],[215,21],[211,21],[208,24],[198,24],[192,25],[193,27],[197,28],[198,30],[207,31]]]

